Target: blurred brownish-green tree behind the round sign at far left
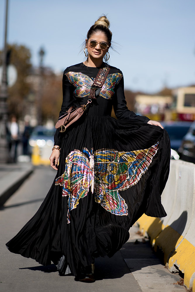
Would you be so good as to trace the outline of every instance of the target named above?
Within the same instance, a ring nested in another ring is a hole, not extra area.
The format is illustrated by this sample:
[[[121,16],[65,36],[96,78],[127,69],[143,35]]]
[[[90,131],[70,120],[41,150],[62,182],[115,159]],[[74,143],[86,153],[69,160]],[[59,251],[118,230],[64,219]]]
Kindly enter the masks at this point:
[[[26,81],[32,67],[30,49],[23,45],[8,45],[10,52],[9,64],[15,65],[18,78],[15,84],[8,89],[9,114],[23,118],[24,101],[30,92],[31,85]],[[0,51],[0,62],[2,64],[2,51]]]

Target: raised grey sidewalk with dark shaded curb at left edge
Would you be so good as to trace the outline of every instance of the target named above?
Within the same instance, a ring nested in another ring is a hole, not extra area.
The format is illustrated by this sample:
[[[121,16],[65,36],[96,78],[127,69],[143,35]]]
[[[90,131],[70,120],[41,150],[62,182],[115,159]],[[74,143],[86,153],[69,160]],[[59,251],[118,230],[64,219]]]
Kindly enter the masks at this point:
[[[0,206],[33,172],[31,163],[0,164]]]

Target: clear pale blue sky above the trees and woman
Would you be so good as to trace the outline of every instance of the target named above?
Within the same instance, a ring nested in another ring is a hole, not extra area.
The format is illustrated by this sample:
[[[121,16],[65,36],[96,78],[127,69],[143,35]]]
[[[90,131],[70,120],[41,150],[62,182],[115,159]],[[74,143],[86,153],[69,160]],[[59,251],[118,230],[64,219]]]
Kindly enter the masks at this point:
[[[3,47],[5,0],[0,1],[0,47]],[[122,70],[125,88],[148,93],[195,84],[195,1],[192,0],[9,0],[8,43],[31,49],[38,65],[56,71],[84,60],[80,45],[102,14],[111,22],[118,53],[110,64]]]

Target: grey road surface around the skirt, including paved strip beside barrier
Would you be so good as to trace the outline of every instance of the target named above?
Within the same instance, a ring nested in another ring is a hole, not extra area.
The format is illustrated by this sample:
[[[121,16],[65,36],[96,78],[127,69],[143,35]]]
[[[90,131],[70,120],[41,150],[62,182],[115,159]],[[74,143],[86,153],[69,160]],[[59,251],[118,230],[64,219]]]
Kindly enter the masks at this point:
[[[73,276],[60,277],[54,264],[42,266],[35,260],[10,253],[5,243],[34,215],[46,196],[56,172],[50,167],[37,167],[0,209],[0,291],[1,292],[135,292],[185,291],[174,285],[180,277],[170,274],[142,242],[136,227],[130,240],[111,259],[95,262],[94,283],[81,283]],[[137,239],[137,245],[134,242]],[[130,272],[131,270],[131,272]]]

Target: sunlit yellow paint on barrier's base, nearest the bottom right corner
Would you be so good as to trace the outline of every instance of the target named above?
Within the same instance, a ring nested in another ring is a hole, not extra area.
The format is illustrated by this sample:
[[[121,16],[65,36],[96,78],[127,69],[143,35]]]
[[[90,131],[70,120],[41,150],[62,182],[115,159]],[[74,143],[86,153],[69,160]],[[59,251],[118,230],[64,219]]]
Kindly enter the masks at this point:
[[[193,283],[190,283],[190,279],[195,272],[195,247],[185,238],[169,259],[170,270],[174,264],[184,273],[184,285],[189,288],[193,284],[193,291],[195,291],[193,279]]]

